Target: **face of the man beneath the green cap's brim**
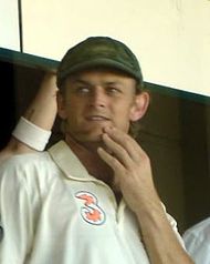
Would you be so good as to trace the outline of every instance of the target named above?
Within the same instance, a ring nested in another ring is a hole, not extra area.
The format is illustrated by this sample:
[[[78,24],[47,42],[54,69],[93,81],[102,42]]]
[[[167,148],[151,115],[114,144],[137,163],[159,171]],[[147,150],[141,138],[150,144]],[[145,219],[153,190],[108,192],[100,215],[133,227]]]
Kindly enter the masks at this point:
[[[70,77],[60,95],[59,113],[66,133],[80,142],[98,142],[105,126],[128,132],[135,108],[136,81],[108,70],[90,70]]]

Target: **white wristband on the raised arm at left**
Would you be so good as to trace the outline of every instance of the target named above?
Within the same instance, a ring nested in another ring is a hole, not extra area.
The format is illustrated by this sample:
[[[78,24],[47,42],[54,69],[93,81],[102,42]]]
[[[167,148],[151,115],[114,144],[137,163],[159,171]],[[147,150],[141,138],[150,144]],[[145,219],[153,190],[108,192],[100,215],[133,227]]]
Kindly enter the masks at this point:
[[[43,151],[51,136],[51,131],[41,129],[23,116],[20,118],[12,135],[36,151]]]

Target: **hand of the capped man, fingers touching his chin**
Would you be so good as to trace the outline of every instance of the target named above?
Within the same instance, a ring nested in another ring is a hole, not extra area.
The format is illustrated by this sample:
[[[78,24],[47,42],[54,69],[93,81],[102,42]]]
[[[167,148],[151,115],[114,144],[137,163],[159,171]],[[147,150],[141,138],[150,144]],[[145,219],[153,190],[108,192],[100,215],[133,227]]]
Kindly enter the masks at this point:
[[[160,204],[153,182],[150,160],[140,145],[128,134],[105,128],[102,135],[105,149],[98,155],[114,171],[115,184],[137,215],[153,202]]]

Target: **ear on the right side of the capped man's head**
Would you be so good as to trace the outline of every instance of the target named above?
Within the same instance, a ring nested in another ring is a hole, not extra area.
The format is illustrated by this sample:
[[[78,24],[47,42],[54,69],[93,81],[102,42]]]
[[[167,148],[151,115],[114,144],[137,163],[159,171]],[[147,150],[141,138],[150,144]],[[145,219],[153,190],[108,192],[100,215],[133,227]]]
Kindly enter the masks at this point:
[[[149,105],[149,93],[140,92],[135,95],[134,105],[130,109],[129,120],[135,122],[140,120],[147,112]]]

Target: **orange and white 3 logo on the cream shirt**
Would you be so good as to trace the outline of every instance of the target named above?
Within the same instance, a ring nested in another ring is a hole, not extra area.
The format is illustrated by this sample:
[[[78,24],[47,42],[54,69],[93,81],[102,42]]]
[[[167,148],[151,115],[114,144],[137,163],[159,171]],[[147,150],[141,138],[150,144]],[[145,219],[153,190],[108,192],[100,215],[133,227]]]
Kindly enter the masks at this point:
[[[102,225],[105,222],[105,213],[98,205],[97,197],[85,191],[77,192],[76,199],[83,200],[84,206],[81,207],[81,215],[90,224]]]

